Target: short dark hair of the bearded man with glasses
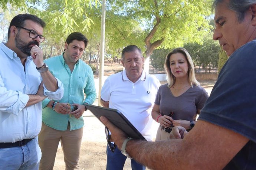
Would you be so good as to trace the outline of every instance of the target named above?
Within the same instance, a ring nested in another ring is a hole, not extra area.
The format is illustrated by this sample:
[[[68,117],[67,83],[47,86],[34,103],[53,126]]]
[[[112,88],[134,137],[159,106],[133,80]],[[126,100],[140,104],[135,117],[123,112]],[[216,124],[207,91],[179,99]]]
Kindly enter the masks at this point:
[[[8,29],[8,39],[10,37],[11,27],[12,26],[23,27],[25,25],[26,20],[31,20],[31,21],[39,24],[43,28],[45,27],[45,22],[42,19],[38,18],[37,16],[32,15],[32,14],[19,14],[19,15],[15,16],[10,23],[10,26]],[[18,28],[18,29],[20,29],[20,28]]]

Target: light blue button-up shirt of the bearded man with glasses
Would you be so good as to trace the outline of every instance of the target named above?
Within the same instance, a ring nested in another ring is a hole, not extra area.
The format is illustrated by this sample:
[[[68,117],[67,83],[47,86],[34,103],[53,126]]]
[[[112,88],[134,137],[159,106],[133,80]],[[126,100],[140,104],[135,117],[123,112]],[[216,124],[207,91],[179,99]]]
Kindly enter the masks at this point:
[[[34,138],[42,126],[42,102],[25,107],[28,94],[36,94],[42,81],[31,57],[25,68],[17,54],[0,44],[0,143],[17,142]],[[58,81],[56,92],[44,86],[44,95],[60,100],[63,96],[62,82]]]

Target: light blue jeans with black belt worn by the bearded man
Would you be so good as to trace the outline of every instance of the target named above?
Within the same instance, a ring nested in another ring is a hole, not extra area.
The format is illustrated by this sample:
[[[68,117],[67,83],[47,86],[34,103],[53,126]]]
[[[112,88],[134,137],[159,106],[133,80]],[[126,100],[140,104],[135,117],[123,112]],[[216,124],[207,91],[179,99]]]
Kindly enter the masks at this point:
[[[1,170],[38,170],[40,159],[38,137],[21,147],[0,149]]]

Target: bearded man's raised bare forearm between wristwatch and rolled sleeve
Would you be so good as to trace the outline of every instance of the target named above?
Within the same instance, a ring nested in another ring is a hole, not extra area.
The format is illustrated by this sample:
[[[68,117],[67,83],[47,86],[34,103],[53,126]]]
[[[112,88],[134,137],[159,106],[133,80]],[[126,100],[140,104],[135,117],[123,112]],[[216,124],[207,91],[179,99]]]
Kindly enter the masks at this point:
[[[47,90],[55,92],[58,89],[57,80],[49,70],[41,73],[41,77]]]

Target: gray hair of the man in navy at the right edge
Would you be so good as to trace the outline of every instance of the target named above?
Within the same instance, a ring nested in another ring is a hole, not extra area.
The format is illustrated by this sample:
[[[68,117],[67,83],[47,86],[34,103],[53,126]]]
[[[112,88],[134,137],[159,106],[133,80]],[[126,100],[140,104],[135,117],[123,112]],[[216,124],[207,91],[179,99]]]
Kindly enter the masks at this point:
[[[224,0],[214,0],[212,10],[221,3],[224,3]],[[256,4],[256,0],[229,0],[227,7],[236,13],[238,22],[241,23],[246,11],[253,4]]]

